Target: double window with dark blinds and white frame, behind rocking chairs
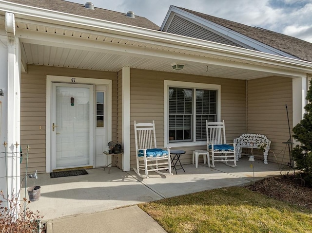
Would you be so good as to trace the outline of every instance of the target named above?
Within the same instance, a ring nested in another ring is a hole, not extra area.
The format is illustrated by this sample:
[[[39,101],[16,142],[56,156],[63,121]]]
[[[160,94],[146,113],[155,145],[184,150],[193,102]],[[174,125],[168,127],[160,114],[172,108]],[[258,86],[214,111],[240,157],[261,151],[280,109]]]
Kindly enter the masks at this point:
[[[220,85],[165,81],[165,142],[206,141],[206,120],[219,121]]]

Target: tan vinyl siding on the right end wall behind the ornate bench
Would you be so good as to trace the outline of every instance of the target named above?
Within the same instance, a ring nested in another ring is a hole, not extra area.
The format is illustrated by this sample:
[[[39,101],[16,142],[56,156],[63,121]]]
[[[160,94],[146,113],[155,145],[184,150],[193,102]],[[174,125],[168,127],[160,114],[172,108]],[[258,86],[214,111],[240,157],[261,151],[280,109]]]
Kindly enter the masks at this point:
[[[275,154],[278,162],[287,164],[289,152],[283,142],[290,138],[286,104],[292,133],[292,79],[273,76],[249,80],[247,93],[247,132],[267,136],[272,141],[268,160],[276,162]]]

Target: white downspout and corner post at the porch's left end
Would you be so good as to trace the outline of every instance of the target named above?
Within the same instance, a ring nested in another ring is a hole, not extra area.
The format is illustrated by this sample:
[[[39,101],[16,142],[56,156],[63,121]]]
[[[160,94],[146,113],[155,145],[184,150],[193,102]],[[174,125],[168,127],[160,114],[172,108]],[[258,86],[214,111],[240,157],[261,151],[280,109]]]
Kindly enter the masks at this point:
[[[15,37],[15,16],[5,13],[5,31],[7,34],[7,197],[11,199],[20,192],[20,45]],[[19,197],[18,197],[19,198]]]

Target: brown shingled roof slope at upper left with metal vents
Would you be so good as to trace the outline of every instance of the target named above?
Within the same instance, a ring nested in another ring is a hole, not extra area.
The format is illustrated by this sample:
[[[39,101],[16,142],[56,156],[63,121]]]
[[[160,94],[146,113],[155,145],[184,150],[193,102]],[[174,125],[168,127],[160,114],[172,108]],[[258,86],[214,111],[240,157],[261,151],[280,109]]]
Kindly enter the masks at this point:
[[[111,22],[122,23],[141,28],[148,28],[159,30],[159,26],[145,17],[135,16],[135,18],[128,17],[126,13],[110,11],[98,7],[94,10],[85,8],[85,5],[65,0],[6,0],[22,5],[43,8],[52,11],[63,12],[72,15],[78,15],[88,18],[97,18]],[[87,1],[87,0],[86,0]]]

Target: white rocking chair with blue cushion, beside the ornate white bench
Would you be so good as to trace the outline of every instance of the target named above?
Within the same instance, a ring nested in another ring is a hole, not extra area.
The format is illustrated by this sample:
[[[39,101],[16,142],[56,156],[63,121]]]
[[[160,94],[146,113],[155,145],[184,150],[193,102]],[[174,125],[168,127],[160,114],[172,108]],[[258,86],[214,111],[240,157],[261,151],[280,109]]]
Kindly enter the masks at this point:
[[[224,120],[222,122],[208,122],[206,120],[207,150],[211,154],[212,166],[222,161],[226,165],[236,167],[235,144],[226,143]],[[209,158],[209,157],[208,157]],[[234,165],[228,162],[234,162]]]

